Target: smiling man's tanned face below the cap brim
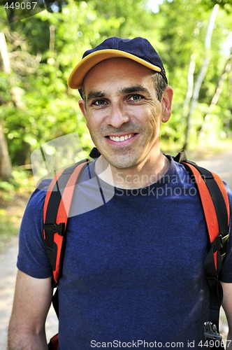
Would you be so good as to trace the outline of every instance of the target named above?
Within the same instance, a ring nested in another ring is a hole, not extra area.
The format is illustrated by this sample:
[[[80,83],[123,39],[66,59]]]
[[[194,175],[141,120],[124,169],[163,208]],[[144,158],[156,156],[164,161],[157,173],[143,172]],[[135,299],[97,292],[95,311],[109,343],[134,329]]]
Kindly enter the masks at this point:
[[[159,102],[153,73],[131,59],[113,58],[85,77],[80,109],[96,148],[117,169],[138,167],[160,152],[161,121],[170,116],[172,90]]]

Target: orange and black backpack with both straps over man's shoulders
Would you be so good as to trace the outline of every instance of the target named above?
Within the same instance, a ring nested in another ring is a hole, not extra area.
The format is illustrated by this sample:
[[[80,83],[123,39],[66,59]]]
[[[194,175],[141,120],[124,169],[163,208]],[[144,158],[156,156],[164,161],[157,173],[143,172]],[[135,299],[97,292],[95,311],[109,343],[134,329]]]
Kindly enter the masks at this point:
[[[90,153],[90,156],[92,154],[94,153]],[[174,160],[180,162],[187,169],[192,181],[196,183],[208,228],[210,248],[205,257],[205,277],[210,291],[210,307],[208,320],[203,325],[205,335],[203,346],[211,349],[224,349],[222,336],[219,334],[219,310],[223,295],[218,277],[229,241],[229,198],[222,179],[217,174],[209,172],[203,167],[198,167],[196,163],[187,160],[184,151],[178,153]],[[58,286],[62,273],[66,225],[75,184],[78,183],[80,175],[88,165],[89,160],[82,160],[57,174],[52,179],[45,196],[43,238],[52,267],[53,288]],[[58,288],[52,298],[52,304],[59,318]],[[48,349],[58,349],[58,346],[59,338],[57,334],[50,340]]]

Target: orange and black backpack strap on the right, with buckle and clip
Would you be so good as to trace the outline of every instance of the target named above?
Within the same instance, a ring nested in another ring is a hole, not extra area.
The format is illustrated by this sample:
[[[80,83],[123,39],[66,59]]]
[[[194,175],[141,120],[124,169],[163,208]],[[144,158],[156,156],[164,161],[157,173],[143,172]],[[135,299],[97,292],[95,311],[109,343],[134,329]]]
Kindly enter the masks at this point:
[[[205,274],[210,290],[208,321],[204,323],[205,339],[208,340],[211,349],[224,349],[222,336],[219,335],[219,309],[222,304],[219,272],[229,241],[229,198],[224,183],[217,174],[190,162],[184,153],[179,153],[174,160],[187,169],[191,178],[196,182],[201,197],[210,240],[210,249],[205,258]]]

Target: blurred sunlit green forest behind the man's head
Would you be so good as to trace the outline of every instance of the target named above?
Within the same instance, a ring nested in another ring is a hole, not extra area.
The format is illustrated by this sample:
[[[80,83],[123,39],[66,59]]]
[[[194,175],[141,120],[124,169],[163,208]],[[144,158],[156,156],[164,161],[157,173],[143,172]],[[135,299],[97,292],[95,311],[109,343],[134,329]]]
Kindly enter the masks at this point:
[[[175,93],[165,152],[230,147],[231,0],[49,1],[22,20],[0,6],[0,200],[27,186],[31,153],[42,144],[78,132],[78,157],[88,156],[79,95],[66,80],[82,53],[109,36],[143,36],[163,59]]]

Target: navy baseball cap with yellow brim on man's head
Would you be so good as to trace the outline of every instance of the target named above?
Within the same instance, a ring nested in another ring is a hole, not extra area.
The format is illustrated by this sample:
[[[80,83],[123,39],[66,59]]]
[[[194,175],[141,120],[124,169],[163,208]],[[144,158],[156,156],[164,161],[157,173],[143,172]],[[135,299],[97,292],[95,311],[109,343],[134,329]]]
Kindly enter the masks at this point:
[[[97,45],[96,48],[87,50],[84,53],[82,60],[71,71],[68,78],[68,86],[73,89],[80,89],[90,69],[104,59],[114,57],[129,58],[143,64],[143,66],[161,73],[166,83],[168,83],[163,62],[147,39],[139,36],[133,39],[114,36],[107,38],[103,43]]]

